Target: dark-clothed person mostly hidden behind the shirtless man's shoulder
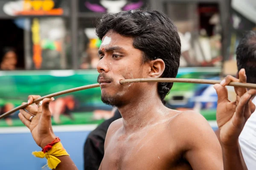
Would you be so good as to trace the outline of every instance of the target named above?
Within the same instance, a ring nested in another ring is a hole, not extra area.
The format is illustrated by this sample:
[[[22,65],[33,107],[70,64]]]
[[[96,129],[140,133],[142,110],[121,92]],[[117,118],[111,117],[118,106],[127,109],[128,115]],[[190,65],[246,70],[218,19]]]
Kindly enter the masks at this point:
[[[104,143],[110,124],[122,118],[118,109],[112,110],[113,117],[104,121],[90,132],[84,144],[84,170],[98,170],[104,156]]]

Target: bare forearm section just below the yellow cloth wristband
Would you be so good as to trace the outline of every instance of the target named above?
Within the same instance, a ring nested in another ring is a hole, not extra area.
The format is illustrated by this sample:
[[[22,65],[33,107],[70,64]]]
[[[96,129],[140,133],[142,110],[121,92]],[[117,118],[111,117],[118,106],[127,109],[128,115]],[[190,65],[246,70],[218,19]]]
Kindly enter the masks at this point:
[[[56,156],[61,163],[54,170],[78,170],[70,156]]]

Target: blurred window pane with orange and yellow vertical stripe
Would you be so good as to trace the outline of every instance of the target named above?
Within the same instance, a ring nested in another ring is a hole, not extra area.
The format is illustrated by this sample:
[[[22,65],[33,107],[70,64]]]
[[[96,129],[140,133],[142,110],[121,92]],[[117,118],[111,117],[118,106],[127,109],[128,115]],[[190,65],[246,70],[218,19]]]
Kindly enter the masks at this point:
[[[33,18],[31,22],[34,69],[70,69],[70,37],[64,18]]]

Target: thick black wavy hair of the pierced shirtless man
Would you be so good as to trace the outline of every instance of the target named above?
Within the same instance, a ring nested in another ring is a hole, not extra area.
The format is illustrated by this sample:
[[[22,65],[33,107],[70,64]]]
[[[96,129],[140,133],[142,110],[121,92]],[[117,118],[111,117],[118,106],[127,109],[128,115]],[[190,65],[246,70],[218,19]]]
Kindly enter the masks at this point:
[[[162,78],[175,78],[180,66],[180,37],[177,28],[166,14],[158,11],[131,10],[105,14],[96,26],[99,39],[110,30],[133,38],[133,46],[143,52],[143,62],[162,59],[165,70]],[[158,83],[163,104],[173,83]]]

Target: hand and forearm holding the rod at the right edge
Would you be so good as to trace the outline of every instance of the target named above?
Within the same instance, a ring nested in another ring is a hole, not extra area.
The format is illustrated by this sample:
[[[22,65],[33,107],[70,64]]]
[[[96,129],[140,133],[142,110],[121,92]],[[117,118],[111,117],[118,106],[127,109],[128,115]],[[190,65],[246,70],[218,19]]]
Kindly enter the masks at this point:
[[[240,70],[239,79],[227,76],[224,80],[221,85],[214,86],[218,94],[216,119],[219,127],[215,134],[221,143],[224,169],[247,170],[239,145],[239,135],[247,119],[255,110],[251,97],[256,94],[256,90],[247,91],[246,88],[236,87],[236,101],[230,102],[227,89],[224,86],[231,81],[246,83],[245,71],[244,69]]]

